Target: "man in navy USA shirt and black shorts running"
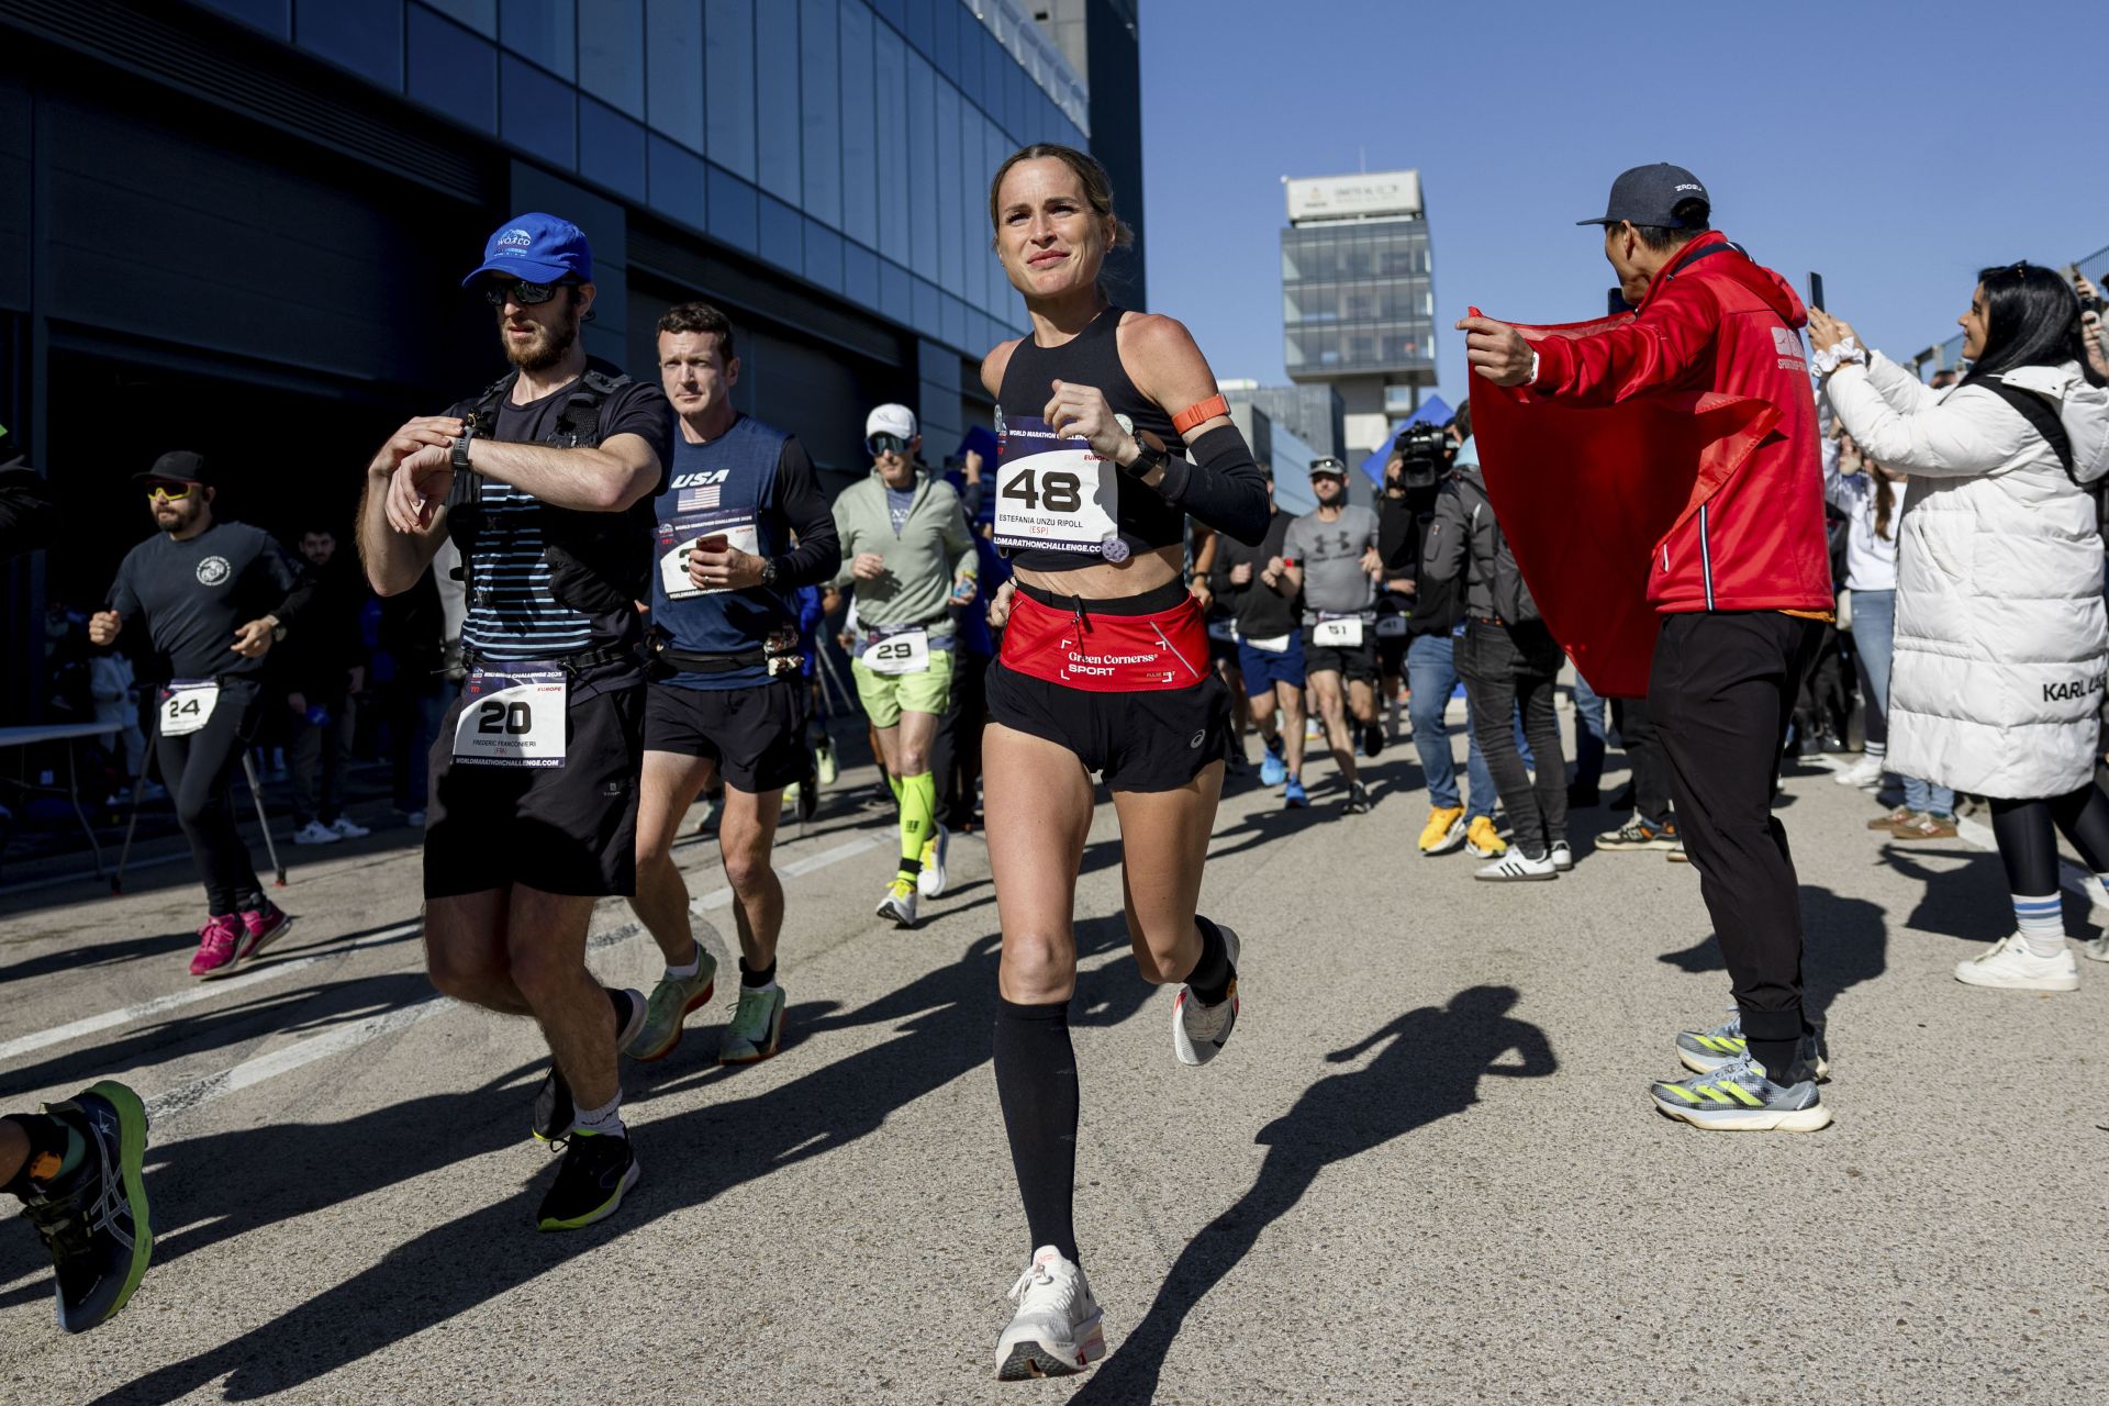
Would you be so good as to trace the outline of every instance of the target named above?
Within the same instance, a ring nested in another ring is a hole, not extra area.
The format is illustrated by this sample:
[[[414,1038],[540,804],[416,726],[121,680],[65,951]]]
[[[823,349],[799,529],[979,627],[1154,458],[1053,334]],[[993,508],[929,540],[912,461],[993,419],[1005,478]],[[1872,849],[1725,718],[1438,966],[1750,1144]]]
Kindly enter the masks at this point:
[[[810,769],[797,590],[833,578],[841,548],[806,449],[732,409],[740,358],[725,314],[709,304],[669,308],[658,360],[675,434],[673,472],[654,502],[654,668],[631,906],[666,955],[666,974],[624,1050],[664,1058],[688,1012],[711,999],[717,961],[690,927],[673,841],[715,774],[725,784],[717,850],[740,932],[740,1001],[717,1058],[751,1065],[776,1054],[782,1037],[785,892],[770,847],[782,788]]]

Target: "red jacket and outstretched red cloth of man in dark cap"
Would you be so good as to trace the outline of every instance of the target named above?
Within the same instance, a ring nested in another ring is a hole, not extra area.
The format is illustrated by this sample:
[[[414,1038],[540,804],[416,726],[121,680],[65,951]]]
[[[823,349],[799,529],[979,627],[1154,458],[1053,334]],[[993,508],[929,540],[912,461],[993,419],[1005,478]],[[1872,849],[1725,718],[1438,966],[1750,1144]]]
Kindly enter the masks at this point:
[[[1495,512],[1599,691],[1645,691],[1647,607],[1833,607],[1803,323],[1784,278],[1702,234],[1637,314],[1521,327],[1529,388],[1474,377]]]

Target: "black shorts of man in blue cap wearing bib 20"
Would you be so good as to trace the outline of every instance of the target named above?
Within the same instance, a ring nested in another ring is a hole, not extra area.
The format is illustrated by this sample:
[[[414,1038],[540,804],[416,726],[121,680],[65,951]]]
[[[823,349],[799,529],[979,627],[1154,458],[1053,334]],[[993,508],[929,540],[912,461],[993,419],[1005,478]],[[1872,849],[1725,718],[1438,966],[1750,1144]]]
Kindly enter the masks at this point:
[[[637,892],[637,772],[645,675],[631,660],[567,670],[563,765],[491,767],[453,759],[453,700],[430,755],[424,896],[512,883],[580,898]]]

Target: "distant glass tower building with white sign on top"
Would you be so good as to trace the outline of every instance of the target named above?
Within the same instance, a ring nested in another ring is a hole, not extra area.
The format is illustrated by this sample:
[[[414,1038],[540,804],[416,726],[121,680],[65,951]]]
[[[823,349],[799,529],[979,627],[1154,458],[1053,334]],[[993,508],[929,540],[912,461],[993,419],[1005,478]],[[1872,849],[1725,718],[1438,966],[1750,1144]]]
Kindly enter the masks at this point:
[[[1282,356],[1299,386],[1333,386],[1348,455],[1436,384],[1434,278],[1419,171],[1284,179]]]

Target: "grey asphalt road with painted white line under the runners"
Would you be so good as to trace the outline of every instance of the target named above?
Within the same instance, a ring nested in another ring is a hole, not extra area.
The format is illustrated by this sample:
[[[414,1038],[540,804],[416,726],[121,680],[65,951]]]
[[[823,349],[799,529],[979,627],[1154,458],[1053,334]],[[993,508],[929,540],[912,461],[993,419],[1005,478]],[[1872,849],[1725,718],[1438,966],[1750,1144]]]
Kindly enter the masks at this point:
[[[1464,854],[1413,854],[1411,748],[1373,774],[1360,818],[1331,786],[1303,814],[1225,797],[1204,911],[1244,934],[1244,1014],[1200,1071],[1126,959],[1101,805],[1078,1214],[1111,1353],[1069,1383],[991,1381],[1031,1246],[989,1075],[987,854],[957,841],[924,923],[879,923],[890,828],[850,795],[865,776],[780,847],[785,1050],[711,1062],[721,980],[671,1060],[626,1067],[643,1180],[574,1235],[531,1221],[546,1054],[527,1022],[434,999],[405,833],[293,852],[297,930],[215,984],[183,970],[183,883],[21,898],[0,917],[0,1109],[131,1081],[160,1239],[124,1315],[70,1339],[40,1246],[6,1227],[4,1393],[2103,1400],[2109,968],[2058,997],[1957,984],[1953,961],[2010,930],[1991,854],[1877,843],[1869,797],[1791,778],[1837,1124],[1702,1134],[1645,1096],[1675,1031],[1727,1005],[1698,875],[1592,854],[1618,820],[1594,809],[1571,875],[1474,883]],[[715,847],[683,866],[730,934]],[[2079,898],[2067,917],[2098,932]],[[595,925],[599,974],[650,987],[626,906]]]

